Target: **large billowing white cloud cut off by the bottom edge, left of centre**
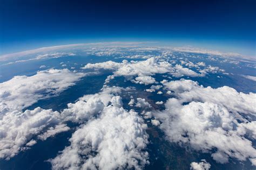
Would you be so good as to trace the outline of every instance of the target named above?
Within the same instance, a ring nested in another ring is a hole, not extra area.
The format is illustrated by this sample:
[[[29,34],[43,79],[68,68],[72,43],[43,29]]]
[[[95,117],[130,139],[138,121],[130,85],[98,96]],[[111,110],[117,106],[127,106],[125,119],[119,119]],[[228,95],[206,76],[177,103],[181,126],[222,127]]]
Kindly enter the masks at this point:
[[[53,169],[139,169],[148,163],[146,124],[114,103],[72,134],[71,145],[51,160]]]

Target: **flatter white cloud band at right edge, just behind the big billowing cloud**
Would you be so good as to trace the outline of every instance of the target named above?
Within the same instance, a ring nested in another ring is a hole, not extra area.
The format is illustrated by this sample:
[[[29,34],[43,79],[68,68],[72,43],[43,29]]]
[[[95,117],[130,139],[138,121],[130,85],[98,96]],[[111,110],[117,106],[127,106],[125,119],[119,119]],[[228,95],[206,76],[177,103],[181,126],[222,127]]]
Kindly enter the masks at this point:
[[[226,107],[228,111],[244,114],[256,114],[256,94],[238,93],[235,89],[224,86],[211,88],[199,86],[198,82],[181,79],[179,81],[162,82],[166,89],[174,91],[182,102],[211,102]]]

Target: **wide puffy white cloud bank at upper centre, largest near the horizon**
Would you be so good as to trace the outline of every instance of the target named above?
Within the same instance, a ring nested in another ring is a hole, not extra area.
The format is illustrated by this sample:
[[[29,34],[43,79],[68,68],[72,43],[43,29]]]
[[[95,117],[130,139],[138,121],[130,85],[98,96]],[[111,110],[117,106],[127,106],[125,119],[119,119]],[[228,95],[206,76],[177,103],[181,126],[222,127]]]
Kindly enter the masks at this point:
[[[100,63],[88,63],[83,69],[94,68],[94,69],[110,69],[113,70],[113,76],[125,76],[127,79],[132,79],[137,76],[137,81],[134,82],[142,82],[140,80],[149,80],[150,77],[154,74],[164,74],[169,73],[176,77],[181,76],[204,76],[203,74],[199,74],[194,72],[191,69],[184,68],[180,65],[176,65],[172,67],[171,63],[167,61],[160,61],[158,58],[149,58],[145,61],[131,61],[123,60],[122,63],[106,61]],[[113,77],[112,77],[113,78]],[[152,83],[153,80],[151,79]]]

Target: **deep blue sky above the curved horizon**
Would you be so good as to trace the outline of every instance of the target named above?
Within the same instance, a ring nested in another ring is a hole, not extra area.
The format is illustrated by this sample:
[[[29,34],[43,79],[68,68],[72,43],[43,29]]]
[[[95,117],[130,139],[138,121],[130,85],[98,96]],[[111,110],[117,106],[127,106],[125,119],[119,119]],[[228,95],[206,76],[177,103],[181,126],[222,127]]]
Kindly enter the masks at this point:
[[[81,42],[161,41],[255,56],[254,0],[0,2],[0,54]]]

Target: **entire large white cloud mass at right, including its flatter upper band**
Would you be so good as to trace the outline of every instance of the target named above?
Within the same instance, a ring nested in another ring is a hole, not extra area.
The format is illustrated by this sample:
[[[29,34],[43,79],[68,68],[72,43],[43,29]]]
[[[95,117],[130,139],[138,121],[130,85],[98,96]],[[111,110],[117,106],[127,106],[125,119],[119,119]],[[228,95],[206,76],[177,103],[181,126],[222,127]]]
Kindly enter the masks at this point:
[[[238,93],[230,87],[205,88],[191,80],[163,84],[176,98],[167,100],[166,109],[153,116],[163,122],[160,128],[170,141],[210,152],[220,163],[229,157],[253,163],[256,124],[241,114],[255,115],[256,94]]]

